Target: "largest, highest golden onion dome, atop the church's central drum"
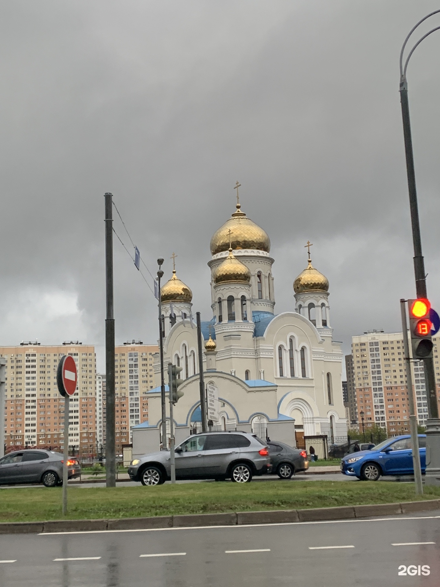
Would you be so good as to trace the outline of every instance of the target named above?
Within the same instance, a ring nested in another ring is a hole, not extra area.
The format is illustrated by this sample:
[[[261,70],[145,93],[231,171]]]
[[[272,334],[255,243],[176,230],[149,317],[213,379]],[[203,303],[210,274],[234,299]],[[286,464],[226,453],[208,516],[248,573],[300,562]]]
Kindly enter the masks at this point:
[[[231,218],[214,232],[209,245],[211,255],[227,251],[229,246],[233,249],[258,249],[269,252],[270,239],[266,232],[240,210],[241,204],[237,203],[236,208]],[[229,231],[231,231],[231,245],[229,245]]]

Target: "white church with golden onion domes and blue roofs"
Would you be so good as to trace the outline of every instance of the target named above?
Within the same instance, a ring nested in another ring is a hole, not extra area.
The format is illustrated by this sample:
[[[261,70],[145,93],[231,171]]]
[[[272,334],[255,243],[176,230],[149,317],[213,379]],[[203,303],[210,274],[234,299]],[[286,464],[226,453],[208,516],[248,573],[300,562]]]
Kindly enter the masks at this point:
[[[310,248],[308,265],[293,283],[295,307],[280,314],[269,237],[241,204],[211,238],[211,255],[212,319],[202,322],[202,334],[205,385],[218,389],[214,429],[252,431],[291,446],[304,436],[327,435],[329,444],[345,436],[343,353],[333,341],[329,281],[312,266]],[[168,363],[181,366],[184,379],[179,388],[184,396],[174,406],[176,444],[201,430],[191,300],[191,289],[174,269],[161,288],[161,303],[165,382]],[[154,371],[157,387],[148,393],[148,421],[132,429],[134,456],[158,450],[161,443],[159,355]],[[167,393],[167,410],[168,405]]]

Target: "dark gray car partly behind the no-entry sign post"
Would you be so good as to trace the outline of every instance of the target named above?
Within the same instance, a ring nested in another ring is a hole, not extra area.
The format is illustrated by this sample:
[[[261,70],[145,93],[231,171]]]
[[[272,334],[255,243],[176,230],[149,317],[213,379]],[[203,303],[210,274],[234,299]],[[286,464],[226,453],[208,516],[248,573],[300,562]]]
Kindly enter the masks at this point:
[[[75,457],[67,461],[69,479],[79,477],[81,466]],[[52,450],[19,450],[0,458],[0,485],[42,483],[46,487],[63,484],[63,455]]]

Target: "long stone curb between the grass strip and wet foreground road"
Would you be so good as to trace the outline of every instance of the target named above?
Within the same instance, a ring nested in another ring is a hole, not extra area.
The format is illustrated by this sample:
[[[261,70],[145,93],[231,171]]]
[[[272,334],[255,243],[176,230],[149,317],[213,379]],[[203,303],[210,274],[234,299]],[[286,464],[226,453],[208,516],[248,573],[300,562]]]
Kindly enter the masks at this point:
[[[0,534],[42,534],[44,532],[90,532],[151,528],[191,528],[196,526],[235,526],[242,524],[288,524],[338,519],[357,519],[381,515],[411,514],[440,510],[440,500],[408,501],[397,504],[343,505],[312,510],[273,510],[226,512],[151,518],[73,519],[49,522],[2,522]]]

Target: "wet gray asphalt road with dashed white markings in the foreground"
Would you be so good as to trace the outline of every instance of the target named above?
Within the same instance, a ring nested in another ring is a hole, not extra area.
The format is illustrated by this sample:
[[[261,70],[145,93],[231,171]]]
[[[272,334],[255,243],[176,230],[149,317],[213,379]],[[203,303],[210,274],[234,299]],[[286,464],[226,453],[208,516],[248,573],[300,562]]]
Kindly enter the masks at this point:
[[[416,575],[398,576],[400,565],[415,565],[409,572]],[[418,565],[429,575],[418,576]],[[1,587],[438,587],[439,575],[440,511],[302,524],[0,535]]]

